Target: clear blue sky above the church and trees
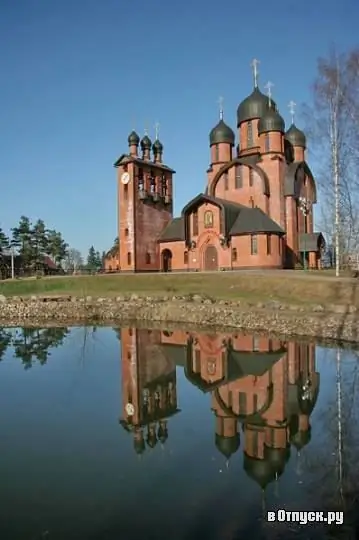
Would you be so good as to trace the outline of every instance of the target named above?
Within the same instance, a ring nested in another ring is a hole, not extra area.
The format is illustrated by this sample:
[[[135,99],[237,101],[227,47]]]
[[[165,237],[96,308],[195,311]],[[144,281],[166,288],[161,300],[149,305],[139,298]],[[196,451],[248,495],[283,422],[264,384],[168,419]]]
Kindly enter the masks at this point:
[[[357,0],[0,0],[0,226],[40,217],[83,252],[109,248],[113,163],[157,121],[180,212],[205,186],[218,97],[235,128],[252,58],[289,122],[317,57],[355,46],[358,20]]]

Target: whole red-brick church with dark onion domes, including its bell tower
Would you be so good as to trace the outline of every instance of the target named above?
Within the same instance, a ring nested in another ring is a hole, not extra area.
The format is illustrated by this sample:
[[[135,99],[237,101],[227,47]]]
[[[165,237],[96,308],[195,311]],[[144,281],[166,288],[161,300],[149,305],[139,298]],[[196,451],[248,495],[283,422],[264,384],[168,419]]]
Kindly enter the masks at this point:
[[[237,134],[219,121],[209,134],[207,186],[173,216],[175,171],[163,145],[135,131],[118,175],[119,253],[105,269],[120,272],[320,268],[324,238],[314,232],[317,190],[306,137],[258,87],[237,108]]]

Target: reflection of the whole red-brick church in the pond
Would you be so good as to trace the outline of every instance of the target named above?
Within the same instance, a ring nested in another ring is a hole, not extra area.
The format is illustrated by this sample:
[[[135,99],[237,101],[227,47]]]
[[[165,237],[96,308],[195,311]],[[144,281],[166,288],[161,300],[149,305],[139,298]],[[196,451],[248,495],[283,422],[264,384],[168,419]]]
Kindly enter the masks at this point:
[[[319,392],[315,346],[240,334],[127,328],[122,347],[122,426],[143,453],[168,437],[178,412],[176,366],[211,395],[215,444],[227,460],[244,442],[244,468],[262,488],[310,441]],[[145,433],[146,431],[146,433]]]

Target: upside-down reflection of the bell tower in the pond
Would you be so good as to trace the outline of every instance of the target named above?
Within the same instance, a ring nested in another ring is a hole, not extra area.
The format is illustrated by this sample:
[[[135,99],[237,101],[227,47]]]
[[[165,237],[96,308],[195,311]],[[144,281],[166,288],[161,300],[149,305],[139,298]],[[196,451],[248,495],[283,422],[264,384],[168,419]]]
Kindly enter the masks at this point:
[[[178,412],[176,366],[162,352],[158,331],[121,329],[121,425],[133,432],[138,454],[168,438],[167,419]],[[144,432],[145,430],[145,432]]]

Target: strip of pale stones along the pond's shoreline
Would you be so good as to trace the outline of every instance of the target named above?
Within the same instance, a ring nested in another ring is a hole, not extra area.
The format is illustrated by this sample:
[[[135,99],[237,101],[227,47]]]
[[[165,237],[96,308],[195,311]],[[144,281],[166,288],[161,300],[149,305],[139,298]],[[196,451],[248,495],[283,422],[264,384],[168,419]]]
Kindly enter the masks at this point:
[[[295,306],[277,301],[250,304],[200,295],[116,298],[0,295],[2,326],[41,324],[179,323],[233,328],[285,336],[359,342],[359,313],[354,306]]]

